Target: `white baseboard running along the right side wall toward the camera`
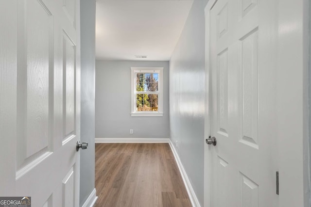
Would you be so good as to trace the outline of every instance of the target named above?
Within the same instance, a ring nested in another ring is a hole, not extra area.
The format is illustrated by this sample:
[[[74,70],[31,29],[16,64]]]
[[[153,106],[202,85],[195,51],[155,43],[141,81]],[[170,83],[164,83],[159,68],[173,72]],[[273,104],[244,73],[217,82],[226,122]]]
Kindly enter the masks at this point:
[[[173,155],[175,157],[175,160],[177,162],[177,166],[179,168],[179,171],[180,171],[180,174],[181,174],[181,177],[183,178],[183,181],[184,181],[184,184],[185,184],[185,187],[186,187],[186,190],[188,192],[188,195],[189,195],[189,198],[190,198],[190,201],[191,201],[191,204],[192,204],[192,207],[201,207],[200,203],[199,203],[199,200],[198,198],[196,197],[195,195],[195,192],[193,191],[193,188],[191,186],[191,183],[190,183],[190,180],[188,178],[188,175],[186,174],[186,171],[179,159],[179,156],[177,154],[177,151],[172,143],[172,141],[170,140],[169,142],[170,146],[171,146],[171,149],[173,151]]]

